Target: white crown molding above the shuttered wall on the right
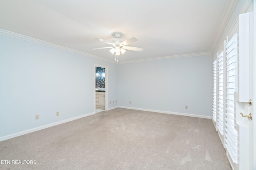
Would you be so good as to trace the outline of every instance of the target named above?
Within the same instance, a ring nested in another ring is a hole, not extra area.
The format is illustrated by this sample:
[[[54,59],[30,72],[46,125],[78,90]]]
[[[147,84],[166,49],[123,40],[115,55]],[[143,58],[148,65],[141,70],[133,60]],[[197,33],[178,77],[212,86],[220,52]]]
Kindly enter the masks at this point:
[[[213,53],[218,41],[220,40],[220,37],[228,23],[228,20],[230,19],[230,16],[231,14],[233,13],[235,7],[236,7],[236,4],[237,4],[238,0],[229,0],[228,1],[228,5],[226,7],[226,10],[224,12],[224,15],[222,17],[222,20],[220,22],[220,26],[218,28],[218,31],[216,33],[216,36],[215,36],[215,39],[214,39],[214,42],[213,42],[213,45],[212,45],[212,49],[211,49],[211,53]]]

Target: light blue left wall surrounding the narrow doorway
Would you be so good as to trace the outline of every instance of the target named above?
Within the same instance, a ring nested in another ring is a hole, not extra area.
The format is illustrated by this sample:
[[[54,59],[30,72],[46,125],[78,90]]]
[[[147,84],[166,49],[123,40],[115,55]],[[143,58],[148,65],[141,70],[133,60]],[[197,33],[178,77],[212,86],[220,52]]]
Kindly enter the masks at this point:
[[[117,100],[117,64],[0,34],[0,137],[94,113],[94,64]]]

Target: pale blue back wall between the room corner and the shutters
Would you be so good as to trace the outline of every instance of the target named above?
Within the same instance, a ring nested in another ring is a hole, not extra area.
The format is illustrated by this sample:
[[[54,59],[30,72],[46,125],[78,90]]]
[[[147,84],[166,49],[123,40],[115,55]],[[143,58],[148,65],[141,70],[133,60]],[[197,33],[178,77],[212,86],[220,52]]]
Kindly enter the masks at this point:
[[[211,63],[204,55],[120,64],[119,106],[210,116]]]

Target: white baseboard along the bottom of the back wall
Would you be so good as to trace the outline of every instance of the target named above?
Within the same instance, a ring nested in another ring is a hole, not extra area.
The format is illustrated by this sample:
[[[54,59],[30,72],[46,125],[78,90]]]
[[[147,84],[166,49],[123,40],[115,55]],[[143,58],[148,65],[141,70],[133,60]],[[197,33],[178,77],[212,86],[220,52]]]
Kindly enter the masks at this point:
[[[120,108],[124,109],[133,109],[133,110],[141,110],[141,111],[152,111],[157,113],[166,113],[166,114],[172,114],[172,115],[181,115],[181,116],[190,116],[190,117],[200,117],[205,119],[212,119],[211,116],[204,116],[204,115],[194,115],[189,113],[178,113],[178,112],[172,112],[172,111],[162,111],[162,110],[153,110],[153,109],[142,109],[142,108],[136,108],[136,107],[126,107],[126,106],[118,106]]]

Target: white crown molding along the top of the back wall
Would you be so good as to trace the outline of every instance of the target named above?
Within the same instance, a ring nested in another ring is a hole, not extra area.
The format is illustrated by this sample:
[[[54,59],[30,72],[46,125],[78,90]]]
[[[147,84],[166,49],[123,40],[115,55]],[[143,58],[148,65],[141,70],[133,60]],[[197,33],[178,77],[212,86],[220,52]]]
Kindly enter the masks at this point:
[[[175,59],[175,58],[182,58],[182,57],[202,56],[202,55],[212,55],[212,53],[210,51],[208,51],[208,52],[202,52],[202,53],[191,53],[191,54],[184,54],[184,55],[172,55],[172,56],[166,56],[166,57],[155,57],[155,58],[150,58],[150,59],[122,61],[122,62],[118,62],[118,64],[138,63],[138,62],[145,62],[145,61]]]

